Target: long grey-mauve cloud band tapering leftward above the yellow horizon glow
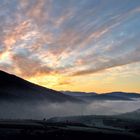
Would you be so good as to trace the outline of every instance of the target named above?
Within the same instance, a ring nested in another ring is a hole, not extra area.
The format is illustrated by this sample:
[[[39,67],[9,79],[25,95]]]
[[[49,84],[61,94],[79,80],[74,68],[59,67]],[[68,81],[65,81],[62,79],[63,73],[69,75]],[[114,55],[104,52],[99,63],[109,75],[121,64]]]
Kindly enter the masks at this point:
[[[85,74],[92,74],[99,71],[103,71],[112,67],[123,66],[131,63],[135,63],[140,61],[140,48],[134,49],[132,52],[127,53],[124,56],[120,56],[118,58],[109,59],[107,61],[100,61],[100,59],[96,59],[96,64],[94,65],[95,68],[91,67],[89,69],[78,71],[73,74],[73,76],[78,75],[85,75]],[[86,61],[82,62],[83,65],[87,63]],[[91,63],[91,62],[88,62]],[[92,65],[92,64],[91,64]]]

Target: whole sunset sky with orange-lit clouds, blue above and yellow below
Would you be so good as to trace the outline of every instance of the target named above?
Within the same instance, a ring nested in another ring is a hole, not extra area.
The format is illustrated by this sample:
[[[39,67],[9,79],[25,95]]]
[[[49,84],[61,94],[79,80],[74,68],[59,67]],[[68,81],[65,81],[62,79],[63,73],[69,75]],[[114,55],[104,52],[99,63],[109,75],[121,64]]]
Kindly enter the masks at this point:
[[[55,90],[140,93],[140,0],[0,0],[0,69]]]

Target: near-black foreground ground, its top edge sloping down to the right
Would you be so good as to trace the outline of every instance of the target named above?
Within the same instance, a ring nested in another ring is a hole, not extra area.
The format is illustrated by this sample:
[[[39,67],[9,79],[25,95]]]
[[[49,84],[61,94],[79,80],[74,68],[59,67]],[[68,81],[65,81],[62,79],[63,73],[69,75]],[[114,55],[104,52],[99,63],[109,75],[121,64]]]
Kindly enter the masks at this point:
[[[137,129],[138,130],[138,129]],[[78,123],[48,123],[37,120],[1,120],[0,140],[137,140],[139,133],[89,127]]]

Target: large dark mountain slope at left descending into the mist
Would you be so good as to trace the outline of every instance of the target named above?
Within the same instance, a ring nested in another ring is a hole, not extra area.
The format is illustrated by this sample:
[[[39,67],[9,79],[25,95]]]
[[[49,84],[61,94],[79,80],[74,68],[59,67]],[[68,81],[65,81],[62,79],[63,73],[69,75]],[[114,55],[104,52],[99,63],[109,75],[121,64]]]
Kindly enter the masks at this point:
[[[0,100],[46,100],[50,102],[80,101],[74,97],[33,84],[4,71],[0,71]]]

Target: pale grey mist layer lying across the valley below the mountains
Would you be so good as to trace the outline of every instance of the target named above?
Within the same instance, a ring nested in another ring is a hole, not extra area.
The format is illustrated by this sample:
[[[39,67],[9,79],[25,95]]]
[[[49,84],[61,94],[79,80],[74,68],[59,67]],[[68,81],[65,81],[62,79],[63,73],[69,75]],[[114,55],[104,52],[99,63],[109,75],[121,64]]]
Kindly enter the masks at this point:
[[[1,119],[43,119],[55,116],[114,115],[139,109],[140,100],[91,103],[0,102]]]

